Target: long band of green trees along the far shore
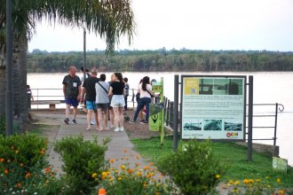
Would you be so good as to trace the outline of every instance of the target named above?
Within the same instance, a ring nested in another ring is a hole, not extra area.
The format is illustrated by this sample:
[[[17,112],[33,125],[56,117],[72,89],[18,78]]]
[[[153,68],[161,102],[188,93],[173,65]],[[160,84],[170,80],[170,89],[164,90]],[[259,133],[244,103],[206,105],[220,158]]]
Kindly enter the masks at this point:
[[[68,67],[83,66],[83,51],[28,52],[28,73],[62,73]],[[86,66],[99,71],[293,71],[293,52],[280,51],[87,51]]]

